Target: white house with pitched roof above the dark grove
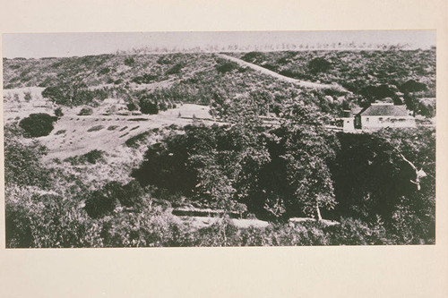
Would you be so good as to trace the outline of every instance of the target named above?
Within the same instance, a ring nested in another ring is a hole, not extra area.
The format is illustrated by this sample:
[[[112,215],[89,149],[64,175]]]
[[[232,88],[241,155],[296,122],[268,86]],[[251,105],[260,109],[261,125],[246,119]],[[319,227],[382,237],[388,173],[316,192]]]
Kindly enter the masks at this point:
[[[344,132],[355,130],[379,130],[384,127],[416,127],[415,118],[409,115],[406,106],[393,103],[375,102],[354,116],[344,117]]]

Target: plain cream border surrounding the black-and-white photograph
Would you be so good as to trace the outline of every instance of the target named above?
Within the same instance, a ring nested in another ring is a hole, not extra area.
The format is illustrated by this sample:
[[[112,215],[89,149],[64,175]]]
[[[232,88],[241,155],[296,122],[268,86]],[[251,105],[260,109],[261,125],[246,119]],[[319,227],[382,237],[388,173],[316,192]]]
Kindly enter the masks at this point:
[[[438,98],[436,245],[8,251],[2,195],[0,296],[448,296],[446,1],[0,0],[0,7],[2,33],[436,29]]]

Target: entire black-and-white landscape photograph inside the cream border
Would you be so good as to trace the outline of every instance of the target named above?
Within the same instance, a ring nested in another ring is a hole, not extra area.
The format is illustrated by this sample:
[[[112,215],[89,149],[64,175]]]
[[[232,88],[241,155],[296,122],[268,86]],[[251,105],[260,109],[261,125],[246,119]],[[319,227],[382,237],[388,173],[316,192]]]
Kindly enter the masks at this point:
[[[6,248],[435,244],[435,33],[4,34]]]

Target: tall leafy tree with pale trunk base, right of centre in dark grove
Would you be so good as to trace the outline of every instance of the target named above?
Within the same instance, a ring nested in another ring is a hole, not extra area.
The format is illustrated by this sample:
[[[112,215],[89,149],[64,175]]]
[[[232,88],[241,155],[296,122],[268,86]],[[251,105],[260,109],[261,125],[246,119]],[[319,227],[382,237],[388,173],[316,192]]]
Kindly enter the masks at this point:
[[[322,219],[321,209],[333,209],[332,176],[327,162],[335,157],[337,141],[323,127],[323,115],[301,103],[289,106],[289,114],[281,123],[285,133],[287,180],[294,190],[289,208],[294,205],[310,217]]]

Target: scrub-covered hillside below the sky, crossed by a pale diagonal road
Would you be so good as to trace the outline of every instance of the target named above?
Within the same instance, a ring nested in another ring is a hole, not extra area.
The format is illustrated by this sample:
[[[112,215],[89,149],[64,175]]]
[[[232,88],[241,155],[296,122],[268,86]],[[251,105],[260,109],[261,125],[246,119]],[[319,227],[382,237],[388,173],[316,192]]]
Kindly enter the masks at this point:
[[[248,96],[263,86],[270,112],[278,112],[281,102],[300,94],[299,100],[332,116],[341,116],[350,105],[366,106],[383,98],[427,115],[426,104],[422,107],[419,102],[435,98],[435,49],[228,55],[240,60],[229,61],[220,54],[4,59],[4,87],[46,88],[47,98],[67,106],[95,105],[104,98],[138,103],[145,97],[158,101],[159,106],[164,103],[164,108],[173,103],[222,107],[227,99]],[[316,88],[319,84],[328,86]],[[81,90],[77,97],[76,89]],[[67,101],[67,97],[72,99]]]

